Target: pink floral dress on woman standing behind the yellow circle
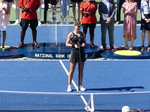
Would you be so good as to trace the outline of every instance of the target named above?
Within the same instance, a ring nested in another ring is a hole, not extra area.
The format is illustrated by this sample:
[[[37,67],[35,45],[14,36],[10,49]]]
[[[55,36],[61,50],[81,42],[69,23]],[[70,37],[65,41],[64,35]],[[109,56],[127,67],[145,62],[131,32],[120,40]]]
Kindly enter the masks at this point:
[[[123,12],[127,10],[137,12],[137,2],[124,2]],[[136,14],[128,13],[124,15],[124,37],[128,35],[128,41],[131,41],[131,36],[136,39]]]

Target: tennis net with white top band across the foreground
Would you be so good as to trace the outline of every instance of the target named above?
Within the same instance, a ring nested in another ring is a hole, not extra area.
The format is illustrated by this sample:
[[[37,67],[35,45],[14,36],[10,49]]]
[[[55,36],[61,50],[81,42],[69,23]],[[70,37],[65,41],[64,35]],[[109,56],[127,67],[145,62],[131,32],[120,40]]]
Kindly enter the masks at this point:
[[[0,111],[90,111],[119,112],[125,105],[131,109],[150,109],[150,92],[120,93],[54,93],[0,91]]]

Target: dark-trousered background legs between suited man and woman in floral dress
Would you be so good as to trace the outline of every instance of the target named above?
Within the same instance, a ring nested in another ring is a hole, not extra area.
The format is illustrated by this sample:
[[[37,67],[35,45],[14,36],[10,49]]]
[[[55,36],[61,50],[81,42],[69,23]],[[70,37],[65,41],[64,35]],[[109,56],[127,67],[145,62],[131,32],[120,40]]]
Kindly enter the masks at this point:
[[[117,0],[117,22],[115,24],[120,24],[120,20],[121,20],[121,8],[122,8],[122,4],[125,2],[125,0]]]

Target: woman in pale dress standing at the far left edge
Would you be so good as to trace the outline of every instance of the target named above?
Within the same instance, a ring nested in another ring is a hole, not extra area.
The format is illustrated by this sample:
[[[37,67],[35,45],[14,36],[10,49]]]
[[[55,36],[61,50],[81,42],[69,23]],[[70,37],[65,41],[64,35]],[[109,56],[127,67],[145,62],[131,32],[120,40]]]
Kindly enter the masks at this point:
[[[9,21],[9,11],[9,3],[5,2],[5,0],[0,0],[0,33],[3,33],[2,50],[5,49],[6,30]]]

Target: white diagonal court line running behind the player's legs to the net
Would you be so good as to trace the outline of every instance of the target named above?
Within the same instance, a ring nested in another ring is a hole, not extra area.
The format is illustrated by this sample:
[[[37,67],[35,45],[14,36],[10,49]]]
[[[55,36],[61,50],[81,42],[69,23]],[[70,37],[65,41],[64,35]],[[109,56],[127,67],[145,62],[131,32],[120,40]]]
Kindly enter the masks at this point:
[[[69,75],[69,72],[68,72],[68,70],[66,69],[66,67],[65,67],[64,63],[62,62],[62,60],[59,60],[59,62],[61,63],[63,69],[64,69],[65,72],[66,72],[66,74]],[[77,85],[75,84],[74,80],[72,80],[72,84],[75,86],[76,90],[78,90],[78,87],[77,87]],[[79,93],[79,94],[80,94],[80,93]],[[89,104],[88,104],[88,102],[85,100],[84,96],[83,96],[83,95],[80,95],[80,97],[81,97],[81,99],[83,100],[83,102],[84,102],[84,104],[86,105],[86,107],[87,107],[88,109],[90,109],[90,107],[88,106]]]

